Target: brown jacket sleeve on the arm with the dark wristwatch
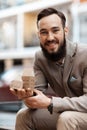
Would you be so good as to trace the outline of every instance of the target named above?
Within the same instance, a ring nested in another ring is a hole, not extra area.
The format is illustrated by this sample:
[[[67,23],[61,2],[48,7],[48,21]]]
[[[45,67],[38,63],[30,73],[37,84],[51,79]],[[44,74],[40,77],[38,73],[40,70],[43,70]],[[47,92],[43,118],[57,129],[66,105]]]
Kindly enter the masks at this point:
[[[53,111],[79,111],[87,113],[87,68],[82,77],[83,95],[79,97],[53,97]]]

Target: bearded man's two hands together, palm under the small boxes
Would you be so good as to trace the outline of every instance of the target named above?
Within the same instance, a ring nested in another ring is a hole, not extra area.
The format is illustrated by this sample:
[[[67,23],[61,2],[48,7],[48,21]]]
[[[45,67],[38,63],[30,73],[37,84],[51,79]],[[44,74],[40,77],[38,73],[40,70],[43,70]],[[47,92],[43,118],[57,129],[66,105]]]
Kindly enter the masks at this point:
[[[35,96],[31,96],[32,90],[28,89],[17,89],[10,88],[10,91],[24,101],[25,105],[30,108],[47,108],[51,102],[51,99],[44,95],[41,91],[34,89]],[[33,95],[33,94],[32,94]]]

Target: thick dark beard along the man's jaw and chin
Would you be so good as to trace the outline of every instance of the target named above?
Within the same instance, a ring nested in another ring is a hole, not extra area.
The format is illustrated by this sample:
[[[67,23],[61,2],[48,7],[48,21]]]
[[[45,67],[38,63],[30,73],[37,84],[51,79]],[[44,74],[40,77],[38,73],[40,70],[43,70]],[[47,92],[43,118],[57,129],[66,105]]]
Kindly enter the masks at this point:
[[[48,60],[56,62],[56,61],[64,58],[65,55],[66,55],[66,39],[65,39],[65,34],[64,34],[63,43],[61,43],[61,44],[62,44],[62,46],[56,52],[52,52],[52,53],[49,53],[41,44],[40,44],[40,46],[42,48],[42,51],[43,51],[43,54],[45,55],[45,57]]]

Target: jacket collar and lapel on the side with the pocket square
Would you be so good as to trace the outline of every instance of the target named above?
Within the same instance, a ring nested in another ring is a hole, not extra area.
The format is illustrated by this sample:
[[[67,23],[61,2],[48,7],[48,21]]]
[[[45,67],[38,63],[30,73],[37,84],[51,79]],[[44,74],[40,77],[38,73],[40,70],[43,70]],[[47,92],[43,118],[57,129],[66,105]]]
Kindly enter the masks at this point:
[[[69,89],[68,79],[72,71],[73,59],[76,54],[76,44],[74,43],[72,44],[69,41],[67,41],[66,50],[67,50],[67,54],[66,54],[65,64],[64,64],[63,85],[67,96],[72,97],[74,95]]]

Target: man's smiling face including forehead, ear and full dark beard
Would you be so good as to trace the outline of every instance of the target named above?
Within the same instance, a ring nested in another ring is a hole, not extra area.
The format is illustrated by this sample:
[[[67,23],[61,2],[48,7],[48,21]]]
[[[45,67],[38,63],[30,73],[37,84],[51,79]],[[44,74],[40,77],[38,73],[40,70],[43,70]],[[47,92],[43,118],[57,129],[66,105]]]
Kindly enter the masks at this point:
[[[38,22],[41,48],[45,56],[51,58],[51,60],[58,61],[65,56],[67,27],[64,24],[56,14],[42,18]]]

